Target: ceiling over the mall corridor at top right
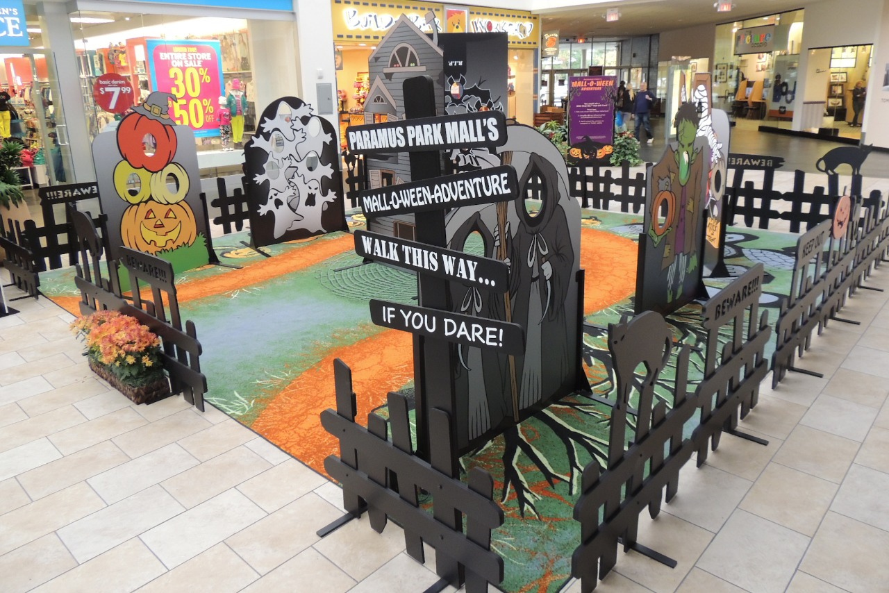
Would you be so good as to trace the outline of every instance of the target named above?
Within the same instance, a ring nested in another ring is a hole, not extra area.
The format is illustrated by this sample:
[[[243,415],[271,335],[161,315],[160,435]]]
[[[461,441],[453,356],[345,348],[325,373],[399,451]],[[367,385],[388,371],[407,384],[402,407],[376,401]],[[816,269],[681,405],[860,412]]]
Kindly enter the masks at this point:
[[[716,0],[627,0],[571,8],[538,9],[541,31],[558,30],[561,39],[573,37],[624,38],[651,35],[708,23],[751,19],[802,7],[802,0],[734,0],[732,12],[717,12]],[[807,0],[805,4],[810,4]],[[605,11],[617,8],[621,19],[605,22]]]

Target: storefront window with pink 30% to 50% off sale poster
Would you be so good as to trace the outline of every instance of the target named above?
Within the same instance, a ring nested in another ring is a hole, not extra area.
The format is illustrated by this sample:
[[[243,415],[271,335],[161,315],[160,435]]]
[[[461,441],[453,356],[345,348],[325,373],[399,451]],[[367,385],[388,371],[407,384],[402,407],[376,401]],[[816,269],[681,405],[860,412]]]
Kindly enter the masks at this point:
[[[70,20],[91,139],[113,131],[149,93],[169,92],[169,115],[195,132],[199,166],[215,174],[240,166],[261,110],[281,96],[264,89],[274,80],[297,92],[296,69],[265,38],[281,23],[124,12],[75,12]],[[121,86],[97,84],[111,79]],[[230,144],[220,137],[220,108],[232,114]]]

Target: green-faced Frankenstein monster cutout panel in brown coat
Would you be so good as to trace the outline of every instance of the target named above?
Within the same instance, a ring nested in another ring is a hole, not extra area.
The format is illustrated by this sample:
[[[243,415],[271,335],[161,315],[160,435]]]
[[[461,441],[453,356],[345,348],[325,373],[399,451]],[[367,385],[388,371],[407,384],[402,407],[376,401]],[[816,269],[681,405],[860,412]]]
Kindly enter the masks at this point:
[[[645,233],[639,236],[636,313],[668,315],[705,294],[701,275],[710,148],[691,102],[676,115],[677,140],[648,169]]]

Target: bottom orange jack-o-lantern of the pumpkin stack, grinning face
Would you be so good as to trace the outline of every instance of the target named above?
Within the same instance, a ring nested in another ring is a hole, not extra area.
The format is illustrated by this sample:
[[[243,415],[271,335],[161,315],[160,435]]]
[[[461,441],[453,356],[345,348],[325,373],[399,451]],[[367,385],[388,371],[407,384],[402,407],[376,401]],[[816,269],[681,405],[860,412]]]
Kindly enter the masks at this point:
[[[195,242],[195,213],[186,202],[159,204],[148,200],[133,204],[120,220],[120,234],[131,249],[152,255],[170,251]]]

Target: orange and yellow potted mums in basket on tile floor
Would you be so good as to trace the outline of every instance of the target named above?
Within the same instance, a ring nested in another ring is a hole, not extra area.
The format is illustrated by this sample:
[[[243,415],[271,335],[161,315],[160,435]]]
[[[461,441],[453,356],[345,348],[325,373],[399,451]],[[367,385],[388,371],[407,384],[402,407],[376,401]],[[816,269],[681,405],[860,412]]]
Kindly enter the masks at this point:
[[[136,404],[169,395],[161,341],[135,317],[97,311],[72,322],[71,331],[84,339],[92,372]]]

